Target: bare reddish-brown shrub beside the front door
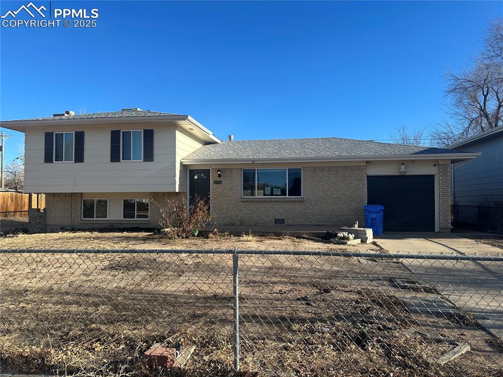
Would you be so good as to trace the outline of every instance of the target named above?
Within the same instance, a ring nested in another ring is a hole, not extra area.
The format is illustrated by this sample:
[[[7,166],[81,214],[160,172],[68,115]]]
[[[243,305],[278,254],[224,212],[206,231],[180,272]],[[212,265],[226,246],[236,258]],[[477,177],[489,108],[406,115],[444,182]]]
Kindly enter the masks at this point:
[[[163,228],[161,235],[169,239],[189,238],[197,233],[210,220],[210,207],[199,196],[194,200],[187,211],[184,197],[168,200],[165,206],[160,206],[159,224]]]

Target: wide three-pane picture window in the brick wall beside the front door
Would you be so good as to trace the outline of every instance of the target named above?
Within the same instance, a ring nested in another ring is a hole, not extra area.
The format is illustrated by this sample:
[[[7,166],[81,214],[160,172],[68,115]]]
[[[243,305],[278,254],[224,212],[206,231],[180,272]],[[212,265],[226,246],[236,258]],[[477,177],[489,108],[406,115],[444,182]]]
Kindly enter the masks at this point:
[[[302,169],[243,169],[242,196],[300,197]]]

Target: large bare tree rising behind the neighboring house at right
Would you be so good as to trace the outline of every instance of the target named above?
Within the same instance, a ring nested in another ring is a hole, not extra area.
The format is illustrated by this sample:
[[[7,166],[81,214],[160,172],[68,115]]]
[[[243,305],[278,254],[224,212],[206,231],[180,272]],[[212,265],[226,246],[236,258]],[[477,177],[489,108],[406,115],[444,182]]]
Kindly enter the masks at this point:
[[[503,19],[486,31],[484,49],[473,66],[445,74],[452,123],[431,130],[432,143],[447,146],[503,124]]]

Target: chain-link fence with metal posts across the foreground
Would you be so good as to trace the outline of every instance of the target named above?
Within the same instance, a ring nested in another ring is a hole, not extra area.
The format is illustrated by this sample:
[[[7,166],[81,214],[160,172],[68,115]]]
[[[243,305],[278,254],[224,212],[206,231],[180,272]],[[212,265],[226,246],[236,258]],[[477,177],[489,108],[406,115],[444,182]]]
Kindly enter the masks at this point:
[[[503,375],[501,255],[0,250],[0,296],[9,371]]]

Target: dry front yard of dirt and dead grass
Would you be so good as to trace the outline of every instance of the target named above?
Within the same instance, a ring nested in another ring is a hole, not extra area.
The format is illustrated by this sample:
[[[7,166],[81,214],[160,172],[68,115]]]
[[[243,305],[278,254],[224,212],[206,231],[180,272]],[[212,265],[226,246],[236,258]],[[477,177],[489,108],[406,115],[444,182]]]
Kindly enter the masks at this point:
[[[0,242],[2,248],[320,247],[289,237],[163,241],[144,233],[22,235]],[[503,348],[476,321],[455,308],[411,310],[412,300],[441,295],[399,289],[392,278],[413,275],[399,260],[239,255],[240,375],[503,376]],[[0,295],[5,370],[153,375],[142,353],[154,343],[181,342],[196,346],[193,357],[181,370],[154,375],[232,375],[230,254],[4,253]],[[440,365],[435,360],[454,347],[447,339],[470,350]]]

